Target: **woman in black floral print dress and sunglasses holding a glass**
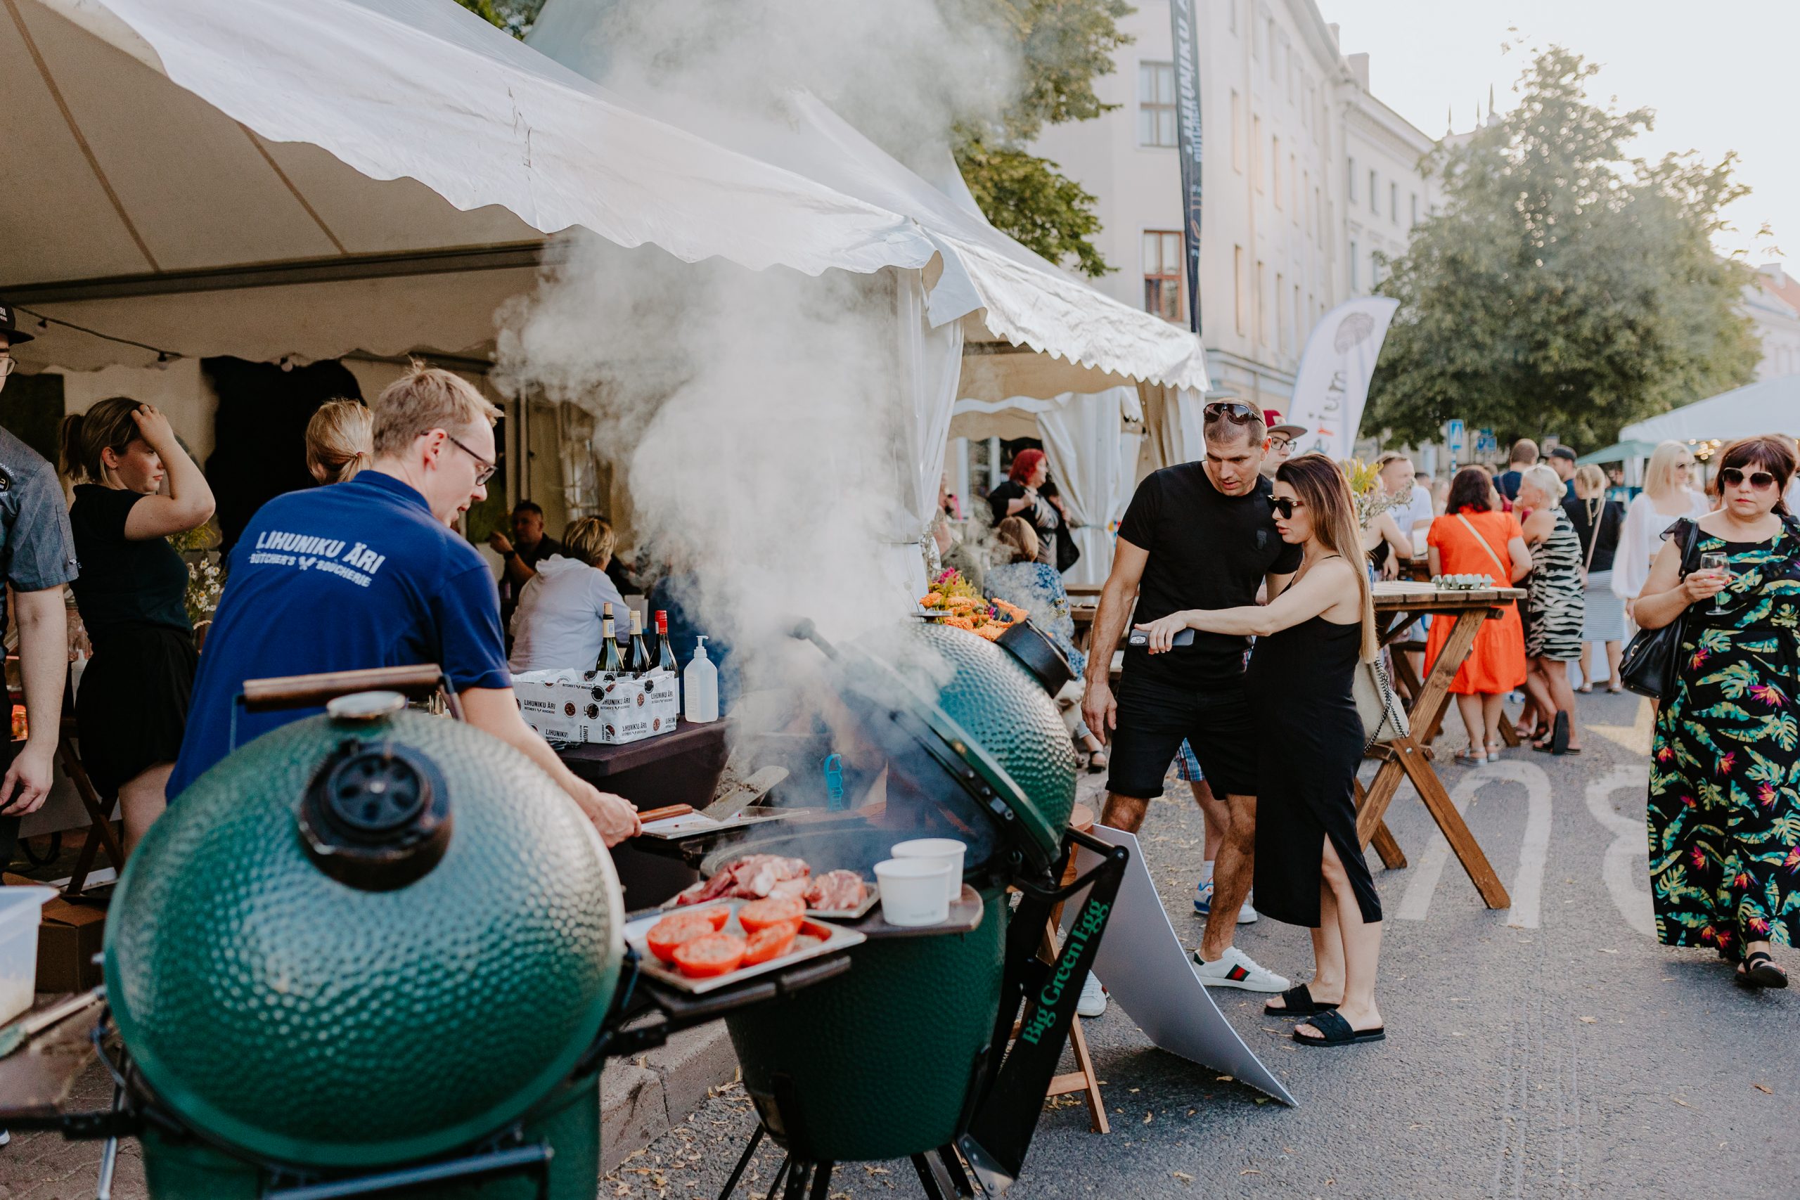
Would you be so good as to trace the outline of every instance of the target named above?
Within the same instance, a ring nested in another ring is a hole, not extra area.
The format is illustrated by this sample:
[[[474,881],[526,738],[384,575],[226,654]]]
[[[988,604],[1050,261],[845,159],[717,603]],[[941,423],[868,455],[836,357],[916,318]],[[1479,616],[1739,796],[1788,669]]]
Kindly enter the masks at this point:
[[[1780,502],[1793,473],[1782,437],[1728,446],[1688,570],[1683,518],[1636,606],[1651,630],[1687,612],[1651,747],[1656,936],[1712,946],[1753,988],[1786,988],[1769,946],[1800,945],[1800,524]],[[1730,556],[1730,576],[1692,570],[1708,552]]]

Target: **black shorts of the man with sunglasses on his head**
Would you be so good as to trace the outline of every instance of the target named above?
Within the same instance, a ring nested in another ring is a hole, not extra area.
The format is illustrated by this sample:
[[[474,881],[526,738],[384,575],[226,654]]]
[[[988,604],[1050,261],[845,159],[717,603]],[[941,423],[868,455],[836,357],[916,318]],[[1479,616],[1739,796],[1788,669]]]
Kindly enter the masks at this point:
[[[1256,725],[1244,684],[1210,682],[1181,687],[1125,671],[1107,792],[1141,801],[1163,795],[1163,775],[1186,738],[1215,795],[1256,795]]]

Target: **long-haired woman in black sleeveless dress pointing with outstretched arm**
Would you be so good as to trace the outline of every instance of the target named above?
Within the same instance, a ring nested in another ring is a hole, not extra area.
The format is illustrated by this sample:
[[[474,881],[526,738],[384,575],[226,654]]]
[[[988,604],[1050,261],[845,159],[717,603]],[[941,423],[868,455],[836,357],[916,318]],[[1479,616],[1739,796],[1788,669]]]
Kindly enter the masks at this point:
[[[1287,590],[1269,604],[1188,610],[1139,626],[1150,651],[1181,628],[1253,635],[1246,673],[1262,730],[1256,772],[1256,910],[1312,930],[1316,972],[1264,1011],[1307,1016],[1303,1045],[1384,1038],[1375,1009],[1381,898],[1355,835],[1354,781],[1363,721],[1352,684],[1377,651],[1355,506],[1327,455],[1283,462],[1274,475],[1276,527],[1305,547]]]

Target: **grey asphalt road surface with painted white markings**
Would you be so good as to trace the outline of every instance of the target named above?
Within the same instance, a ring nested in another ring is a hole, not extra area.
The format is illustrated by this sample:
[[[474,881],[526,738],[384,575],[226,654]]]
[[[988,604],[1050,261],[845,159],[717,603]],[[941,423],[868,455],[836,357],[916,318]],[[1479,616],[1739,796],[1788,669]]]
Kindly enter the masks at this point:
[[[1262,997],[1213,991],[1300,1101],[1287,1108],[1157,1051],[1118,1006],[1085,1022],[1112,1114],[1080,1097],[1042,1117],[1013,1200],[1091,1196],[1796,1196],[1800,988],[1748,993],[1712,952],[1665,950],[1649,923],[1649,705],[1582,696],[1586,752],[1526,748],[1444,765],[1514,909],[1490,912],[1402,786],[1388,824],[1409,867],[1375,882],[1388,914],[1377,1000],[1388,1040],[1303,1049]],[[1460,721],[1438,739],[1462,745]],[[1084,784],[1084,793],[1096,779]],[[1192,948],[1201,819],[1170,783],[1141,831]],[[1436,869],[1433,864],[1438,864]],[[1296,981],[1307,932],[1271,919],[1238,945]],[[1777,950],[1800,979],[1800,955]],[[752,1130],[742,1088],[601,1180],[601,1196],[713,1196]],[[761,1196],[760,1151],[740,1196]],[[833,1196],[920,1195],[905,1162],[846,1164]]]

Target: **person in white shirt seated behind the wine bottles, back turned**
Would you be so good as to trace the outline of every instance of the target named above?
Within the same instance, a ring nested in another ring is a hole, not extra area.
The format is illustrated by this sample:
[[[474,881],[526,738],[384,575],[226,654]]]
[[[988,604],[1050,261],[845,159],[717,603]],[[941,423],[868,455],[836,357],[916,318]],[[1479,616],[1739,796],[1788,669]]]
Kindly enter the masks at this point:
[[[598,516],[583,516],[563,531],[563,554],[538,563],[513,612],[513,655],[508,658],[513,675],[594,669],[605,606],[612,604],[616,621],[630,621],[625,599],[607,578],[612,545],[612,527]]]

